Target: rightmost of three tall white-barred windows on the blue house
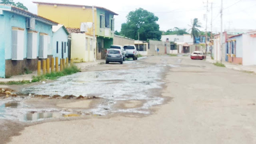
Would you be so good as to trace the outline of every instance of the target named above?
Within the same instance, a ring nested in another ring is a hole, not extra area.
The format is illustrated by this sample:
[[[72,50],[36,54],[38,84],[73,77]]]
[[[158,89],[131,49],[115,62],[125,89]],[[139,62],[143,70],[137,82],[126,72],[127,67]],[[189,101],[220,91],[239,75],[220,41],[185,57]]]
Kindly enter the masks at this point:
[[[40,33],[38,58],[47,58],[47,49],[48,49],[48,35],[45,33]]]

